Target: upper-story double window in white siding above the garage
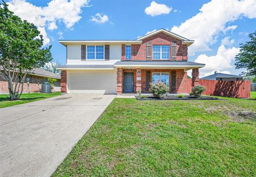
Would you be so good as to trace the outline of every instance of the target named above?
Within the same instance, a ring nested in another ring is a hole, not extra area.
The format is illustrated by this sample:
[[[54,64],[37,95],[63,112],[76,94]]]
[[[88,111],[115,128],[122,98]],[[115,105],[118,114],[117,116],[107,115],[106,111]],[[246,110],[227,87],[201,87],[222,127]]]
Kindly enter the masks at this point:
[[[88,45],[87,46],[87,60],[104,60],[104,46],[103,45]]]

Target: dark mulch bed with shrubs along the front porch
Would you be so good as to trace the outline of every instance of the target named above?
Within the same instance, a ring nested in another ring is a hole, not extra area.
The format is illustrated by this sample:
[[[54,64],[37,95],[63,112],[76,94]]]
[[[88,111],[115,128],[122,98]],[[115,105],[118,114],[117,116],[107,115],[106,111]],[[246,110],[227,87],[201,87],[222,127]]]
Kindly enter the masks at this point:
[[[135,98],[137,100],[220,100],[218,98],[210,97],[210,96],[201,96],[199,98],[196,98],[194,96],[189,96],[189,95],[184,95],[183,98],[178,98],[178,95],[164,95],[161,98],[155,98],[149,95],[144,99],[140,98],[140,96],[135,96]]]

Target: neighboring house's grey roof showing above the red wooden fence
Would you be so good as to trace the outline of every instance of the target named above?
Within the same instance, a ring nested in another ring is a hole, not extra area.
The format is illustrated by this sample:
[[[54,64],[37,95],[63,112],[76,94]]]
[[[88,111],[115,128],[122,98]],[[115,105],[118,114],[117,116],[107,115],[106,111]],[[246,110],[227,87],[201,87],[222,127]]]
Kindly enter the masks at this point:
[[[223,73],[218,73],[217,71],[215,71],[213,75],[202,77],[200,79],[216,80],[216,81],[243,81],[242,76],[223,74]]]

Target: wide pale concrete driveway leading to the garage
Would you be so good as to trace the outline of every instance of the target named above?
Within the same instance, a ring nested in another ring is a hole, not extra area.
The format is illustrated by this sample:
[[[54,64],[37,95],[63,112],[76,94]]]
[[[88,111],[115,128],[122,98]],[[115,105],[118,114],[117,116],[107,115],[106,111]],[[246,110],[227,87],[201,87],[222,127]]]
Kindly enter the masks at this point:
[[[65,94],[0,109],[0,176],[50,176],[115,96]]]

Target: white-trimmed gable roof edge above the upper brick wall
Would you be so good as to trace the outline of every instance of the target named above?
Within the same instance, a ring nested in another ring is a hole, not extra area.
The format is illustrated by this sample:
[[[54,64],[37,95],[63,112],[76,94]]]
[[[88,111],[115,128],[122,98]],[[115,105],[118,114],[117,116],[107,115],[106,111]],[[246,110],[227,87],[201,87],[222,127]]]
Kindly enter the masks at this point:
[[[190,40],[190,39],[188,39],[188,38],[185,38],[185,37],[182,37],[182,36],[177,35],[177,34],[175,34],[175,33],[172,33],[171,31],[168,31],[168,30],[166,30],[166,29],[159,29],[159,30],[153,31],[152,33],[149,33],[149,34],[147,34],[147,35],[141,36],[141,37],[139,37],[139,38],[137,38],[137,39],[135,39],[135,40],[140,41],[140,40],[143,40],[143,39],[148,38],[148,37],[150,37],[150,36],[156,35],[156,34],[158,34],[158,33],[164,33],[164,34],[166,34],[166,35],[170,35],[170,36],[172,36],[172,37],[175,37],[175,38],[177,38],[177,39],[180,39],[183,44],[191,45],[191,44],[194,43],[193,40]]]

